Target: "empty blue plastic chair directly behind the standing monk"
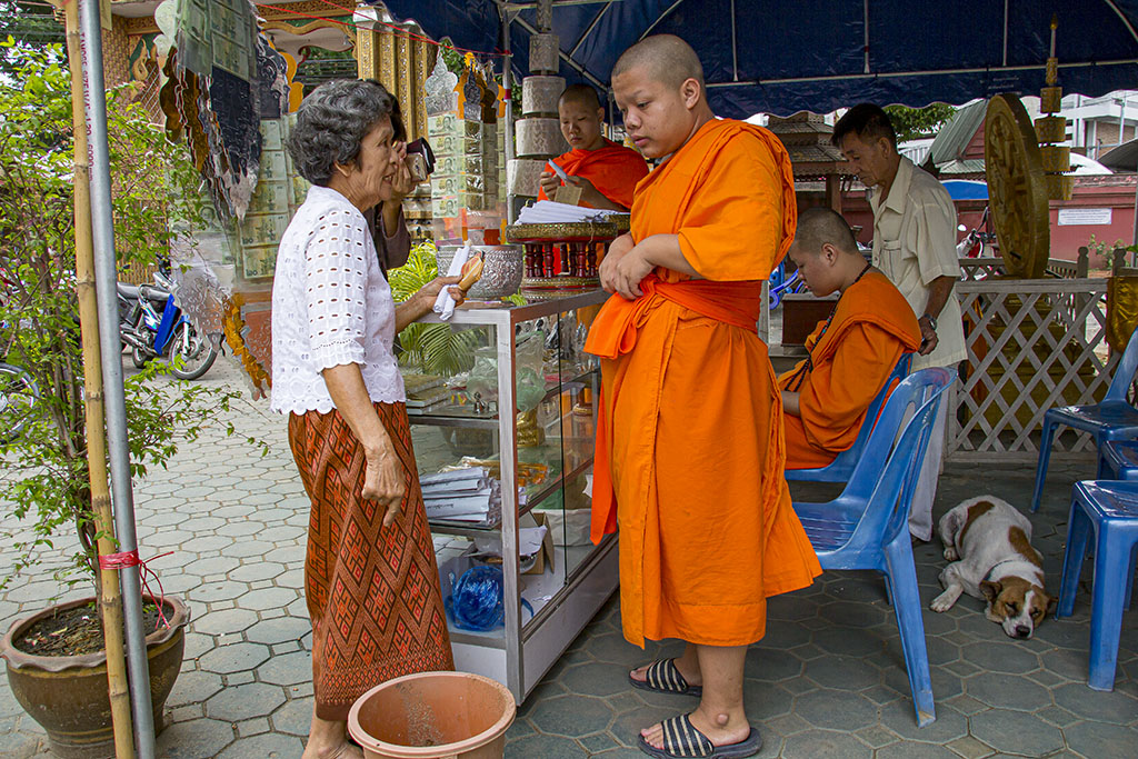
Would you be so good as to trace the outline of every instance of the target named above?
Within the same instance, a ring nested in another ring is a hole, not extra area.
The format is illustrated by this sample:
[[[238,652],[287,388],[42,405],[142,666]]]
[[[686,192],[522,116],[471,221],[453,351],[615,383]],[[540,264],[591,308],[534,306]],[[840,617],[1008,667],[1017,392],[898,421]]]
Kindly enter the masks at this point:
[[[873,569],[885,576],[921,727],[932,724],[937,711],[909,543],[909,505],[937,405],[951,381],[951,374],[939,368],[910,374],[890,394],[842,494],[828,503],[794,504],[823,569]],[[898,437],[910,405],[916,413]]]

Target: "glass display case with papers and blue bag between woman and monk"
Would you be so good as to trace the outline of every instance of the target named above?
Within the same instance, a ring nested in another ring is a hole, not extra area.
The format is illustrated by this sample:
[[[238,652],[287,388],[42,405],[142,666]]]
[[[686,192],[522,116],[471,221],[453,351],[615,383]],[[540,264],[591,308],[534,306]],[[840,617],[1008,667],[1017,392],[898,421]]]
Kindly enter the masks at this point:
[[[617,587],[616,536],[588,539],[601,378],[584,345],[605,297],[472,304],[399,335],[455,666],[519,703]],[[476,580],[501,583],[501,620]]]

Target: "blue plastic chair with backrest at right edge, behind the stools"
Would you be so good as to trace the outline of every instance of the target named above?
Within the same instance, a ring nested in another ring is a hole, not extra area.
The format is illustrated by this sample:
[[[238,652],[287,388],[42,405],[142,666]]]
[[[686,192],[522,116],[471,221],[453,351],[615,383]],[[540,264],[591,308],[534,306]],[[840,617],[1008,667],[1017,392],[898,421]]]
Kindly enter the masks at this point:
[[[1102,451],[1108,440],[1129,440],[1138,437],[1138,410],[1127,403],[1127,390],[1138,370],[1138,329],[1130,333],[1127,349],[1114,370],[1111,386],[1102,403],[1092,406],[1059,406],[1044,414],[1044,434],[1039,438],[1039,463],[1036,465],[1036,492],[1031,496],[1032,513],[1039,511],[1039,501],[1044,496],[1044,480],[1047,479],[1047,464],[1052,457],[1052,440],[1055,428],[1066,424],[1085,430],[1095,436],[1095,445],[1099,451],[1098,479],[1104,479]]]

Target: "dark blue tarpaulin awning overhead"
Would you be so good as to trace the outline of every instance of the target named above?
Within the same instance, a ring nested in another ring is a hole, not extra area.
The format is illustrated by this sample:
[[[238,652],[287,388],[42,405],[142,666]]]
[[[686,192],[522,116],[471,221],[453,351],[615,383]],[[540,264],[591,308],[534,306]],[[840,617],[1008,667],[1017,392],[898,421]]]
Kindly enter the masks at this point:
[[[534,2],[386,0],[435,39],[502,50],[528,73]],[[855,102],[960,105],[1038,93],[1058,19],[1059,84],[1099,96],[1138,89],[1138,0],[568,0],[554,2],[561,72],[605,86],[620,53],[648,34],[686,40],[716,113],[828,113]]]

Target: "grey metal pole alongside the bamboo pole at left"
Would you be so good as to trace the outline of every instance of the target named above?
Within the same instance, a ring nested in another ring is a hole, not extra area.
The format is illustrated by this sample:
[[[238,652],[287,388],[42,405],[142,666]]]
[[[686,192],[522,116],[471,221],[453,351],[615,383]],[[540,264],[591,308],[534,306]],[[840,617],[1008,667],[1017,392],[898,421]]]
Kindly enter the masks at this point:
[[[88,127],[91,134],[91,230],[94,240],[96,294],[99,300],[99,343],[102,347],[102,385],[106,393],[107,448],[115,508],[118,550],[138,550],[134,501],[131,492],[130,446],[126,439],[126,402],[123,396],[122,346],[118,343],[118,304],[115,298],[115,226],[110,211],[110,151],[107,146],[107,99],[102,76],[102,28],[99,0],[80,0],[82,40],[86,49]],[[126,663],[130,671],[134,743],[140,759],[154,759],[154,713],[150,669],[142,629],[142,589],[139,568],[119,570],[126,622]]]

